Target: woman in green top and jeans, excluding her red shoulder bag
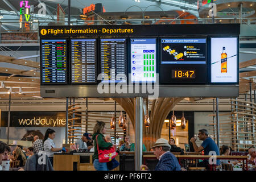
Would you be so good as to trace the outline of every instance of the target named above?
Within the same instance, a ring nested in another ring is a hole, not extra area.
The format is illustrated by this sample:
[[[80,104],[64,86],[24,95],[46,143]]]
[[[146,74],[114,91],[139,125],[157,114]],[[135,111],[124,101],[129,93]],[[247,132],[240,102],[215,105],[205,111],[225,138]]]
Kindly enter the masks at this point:
[[[94,154],[93,154],[93,166],[97,171],[109,171],[107,163],[100,163],[98,161],[98,148],[99,150],[105,150],[112,147],[113,144],[106,142],[104,135],[106,133],[105,122],[97,121],[93,129],[93,144],[94,144]],[[97,137],[97,140],[96,140]],[[97,148],[98,144],[98,148]]]

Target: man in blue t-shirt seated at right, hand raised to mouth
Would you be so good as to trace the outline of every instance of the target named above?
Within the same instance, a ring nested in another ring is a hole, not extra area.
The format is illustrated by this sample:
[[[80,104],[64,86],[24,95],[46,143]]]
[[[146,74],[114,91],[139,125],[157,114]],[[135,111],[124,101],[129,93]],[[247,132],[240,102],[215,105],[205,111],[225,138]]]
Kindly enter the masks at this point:
[[[196,145],[196,137],[190,139],[190,142],[192,142],[195,152],[201,152],[202,150],[204,150],[204,155],[220,155],[220,150],[218,150],[217,144],[214,142],[213,139],[208,137],[208,131],[206,129],[199,130],[198,138],[204,141],[199,147]],[[208,160],[203,160],[203,162],[198,163],[197,166],[208,168],[208,164]],[[216,160],[216,164],[220,165],[220,160]]]

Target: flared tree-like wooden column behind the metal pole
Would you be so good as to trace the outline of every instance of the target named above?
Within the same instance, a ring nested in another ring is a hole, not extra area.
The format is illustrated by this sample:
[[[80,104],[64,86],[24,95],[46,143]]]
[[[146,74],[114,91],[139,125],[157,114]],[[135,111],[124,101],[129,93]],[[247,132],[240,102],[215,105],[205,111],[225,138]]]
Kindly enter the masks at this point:
[[[123,107],[126,113],[129,115],[130,121],[135,127],[135,105],[134,98],[113,98],[119,105]],[[146,128],[143,125],[143,143],[147,150],[155,143],[155,141],[161,137],[161,131],[163,127],[163,121],[167,115],[174,108],[174,106],[183,100],[181,97],[165,97],[157,98],[152,101],[151,113],[150,113],[150,127]]]

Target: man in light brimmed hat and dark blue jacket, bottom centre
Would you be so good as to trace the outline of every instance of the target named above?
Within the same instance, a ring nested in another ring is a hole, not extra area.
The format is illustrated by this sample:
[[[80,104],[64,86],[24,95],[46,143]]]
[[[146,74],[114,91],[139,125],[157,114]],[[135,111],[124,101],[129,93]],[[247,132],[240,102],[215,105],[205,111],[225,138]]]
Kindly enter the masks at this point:
[[[170,144],[168,140],[159,138],[156,140],[155,145],[151,147],[154,149],[154,154],[159,159],[156,164],[155,171],[180,171],[181,167],[177,158],[170,152]],[[141,166],[141,170],[148,170],[146,165]]]

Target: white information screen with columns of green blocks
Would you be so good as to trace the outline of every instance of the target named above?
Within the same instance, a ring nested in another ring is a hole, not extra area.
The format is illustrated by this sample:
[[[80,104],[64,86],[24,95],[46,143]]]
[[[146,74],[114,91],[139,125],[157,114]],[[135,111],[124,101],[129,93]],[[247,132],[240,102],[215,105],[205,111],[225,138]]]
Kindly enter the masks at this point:
[[[131,82],[156,81],[156,39],[131,39]]]

